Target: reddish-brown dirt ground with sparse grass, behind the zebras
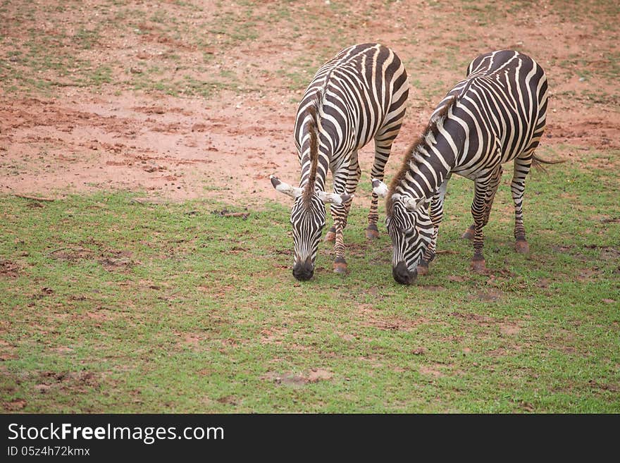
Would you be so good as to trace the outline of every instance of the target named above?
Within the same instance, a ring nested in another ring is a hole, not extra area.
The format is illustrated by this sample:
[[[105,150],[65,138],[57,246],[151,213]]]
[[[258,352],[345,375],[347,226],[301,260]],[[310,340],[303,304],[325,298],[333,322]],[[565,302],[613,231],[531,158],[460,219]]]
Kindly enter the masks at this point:
[[[298,179],[297,101],[321,63],[358,42],[392,47],[409,73],[388,173],[467,63],[492,49],[545,68],[542,147],[563,159],[620,149],[618,9],[605,2],[120,3],[0,8],[0,193],[287,204],[268,176]],[[366,173],[372,156],[368,145]]]

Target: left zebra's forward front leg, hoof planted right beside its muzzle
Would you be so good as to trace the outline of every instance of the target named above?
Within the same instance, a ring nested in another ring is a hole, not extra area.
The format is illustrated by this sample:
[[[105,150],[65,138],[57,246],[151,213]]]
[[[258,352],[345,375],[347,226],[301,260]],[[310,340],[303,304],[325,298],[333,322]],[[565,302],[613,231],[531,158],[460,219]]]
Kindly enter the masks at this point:
[[[346,169],[342,175],[340,175],[339,172],[334,173],[334,192],[339,195],[342,195],[342,193],[352,195],[356,190],[357,183],[359,183],[361,169],[357,162],[357,153],[354,152],[351,157],[349,168]],[[342,275],[348,273],[347,261],[345,260],[345,239],[343,232],[347,226],[352,202],[353,199],[350,198],[344,204],[340,204],[340,206],[335,206],[334,204],[330,206],[330,213],[332,214],[335,228],[334,271]]]

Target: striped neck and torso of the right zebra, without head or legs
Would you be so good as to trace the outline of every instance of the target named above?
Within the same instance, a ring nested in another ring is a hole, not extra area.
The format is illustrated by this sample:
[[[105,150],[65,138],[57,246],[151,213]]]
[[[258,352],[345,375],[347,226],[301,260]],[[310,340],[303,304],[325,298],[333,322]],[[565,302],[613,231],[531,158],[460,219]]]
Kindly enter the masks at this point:
[[[430,199],[448,173],[473,179],[538,145],[547,110],[543,68],[529,56],[500,50],[478,56],[468,73],[436,106],[390,193]]]

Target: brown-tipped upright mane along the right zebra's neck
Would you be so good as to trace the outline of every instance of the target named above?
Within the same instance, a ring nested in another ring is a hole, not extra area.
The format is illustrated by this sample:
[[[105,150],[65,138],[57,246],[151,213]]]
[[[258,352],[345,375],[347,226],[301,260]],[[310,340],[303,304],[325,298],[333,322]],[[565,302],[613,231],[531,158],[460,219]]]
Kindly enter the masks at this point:
[[[410,168],[409,166],[411,163],[416,163],[417,160],[422,159],[423,157],[430,156],[430,144],[433,140],[435,140],[435,135],[439,132],[438,126],[445,121],[448,111],[452,109],[458,99],[459,97],[457,95],[452,95],[452,97],[445,102],[440,111],[430,119],[428,125],[426,125],[426,128],[423,130],[422,135],[418,137],[418,139],[413,142],[409,148],[407,148],[407,152],[405,153],[402,161],[402,166],[400,166],[399,171],[396,173],[394,178],[392,178],[392,183],[390,183],[390,191],[387,193],[387,199],[385,200],[385,211],[388,215],[392,215],[392,195],[396,192],[398,185],[404,182],[407,177],[407,172]]]

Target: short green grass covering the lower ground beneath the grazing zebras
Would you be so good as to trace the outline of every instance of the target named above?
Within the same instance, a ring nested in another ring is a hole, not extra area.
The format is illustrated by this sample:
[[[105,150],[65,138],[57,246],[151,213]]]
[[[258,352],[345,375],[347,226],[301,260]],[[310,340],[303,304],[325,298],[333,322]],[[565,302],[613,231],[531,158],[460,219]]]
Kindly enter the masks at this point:
[[[596,165],[528,178],[528,257],[512,251],[506,174],[485,229],[488,275],[469,271],[459,235],[472,185],[454,178],[438,259],[409,287],[392,280],[384,227],[364,240],[363,195],[345,234],[350,275],[331,272],[323,244],[306,283],[291,275],[282,206],[244,220],[213,214],[234,209],[223,204],[125,193],[2,196],[0,402],[20,412],[620,412],[620,175]]]

